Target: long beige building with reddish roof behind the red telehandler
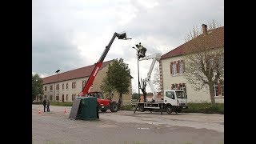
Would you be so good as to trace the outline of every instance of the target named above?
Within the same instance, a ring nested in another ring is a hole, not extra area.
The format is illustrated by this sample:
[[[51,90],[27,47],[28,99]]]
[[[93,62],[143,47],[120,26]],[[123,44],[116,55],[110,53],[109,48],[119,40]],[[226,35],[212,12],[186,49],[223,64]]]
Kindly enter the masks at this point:
[[[90,91],[102,91],[100,85],[102,78],[106,76],[106,71],[111,61],[103,62],[101,69],[98,71],[94,79],[94,84]],[[94,69],[94,65],[85,66],[75,70],[66,71],[63,73],[54,74],[43,79],[43,98],[49,98],[51,102],[73,102],[74,98],[82,91],[86,85],[90,73]],[[122,94],[122,102],[124,105],[131,102],[131,81],[129,93]],[[105,96],[106,94],[104,94]],[[114,93],[113,100],[118,101],[118,93]]]

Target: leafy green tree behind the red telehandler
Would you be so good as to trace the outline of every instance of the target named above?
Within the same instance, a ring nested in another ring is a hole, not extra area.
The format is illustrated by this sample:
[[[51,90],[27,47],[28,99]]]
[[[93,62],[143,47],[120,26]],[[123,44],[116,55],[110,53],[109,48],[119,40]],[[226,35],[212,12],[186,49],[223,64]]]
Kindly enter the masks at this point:
[[[123,62],[122,58],[119,60],[114,59],[113,62],[110,63],[102,86],[104,85],[107,86],[104,89],[110,90],[113,88],[113,90],[118,92],[119,109],[120,106],[122,106],[122,94],[127,94],[130,86],[130,69],[128,64]]]

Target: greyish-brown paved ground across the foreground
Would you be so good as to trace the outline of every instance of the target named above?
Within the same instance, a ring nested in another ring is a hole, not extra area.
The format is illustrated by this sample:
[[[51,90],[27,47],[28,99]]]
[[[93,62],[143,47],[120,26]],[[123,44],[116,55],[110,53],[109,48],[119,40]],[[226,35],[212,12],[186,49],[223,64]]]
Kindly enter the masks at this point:
[[[44,113],[42,106],[32,105],[33,143],[224,143],[223,114],[108,110],[100,112],[98,120],[86,121],[69,119],[70,109],[50,106]]]

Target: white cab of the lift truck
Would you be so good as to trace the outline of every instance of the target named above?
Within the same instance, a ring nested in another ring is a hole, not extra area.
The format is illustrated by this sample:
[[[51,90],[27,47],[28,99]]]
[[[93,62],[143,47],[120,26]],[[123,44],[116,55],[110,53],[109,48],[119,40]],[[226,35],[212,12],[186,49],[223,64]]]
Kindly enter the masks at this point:
[[[163,102],[168,114],[173,110],[180,113],[182,109],[187,109],[187,96],[184,90],[164,90]]]

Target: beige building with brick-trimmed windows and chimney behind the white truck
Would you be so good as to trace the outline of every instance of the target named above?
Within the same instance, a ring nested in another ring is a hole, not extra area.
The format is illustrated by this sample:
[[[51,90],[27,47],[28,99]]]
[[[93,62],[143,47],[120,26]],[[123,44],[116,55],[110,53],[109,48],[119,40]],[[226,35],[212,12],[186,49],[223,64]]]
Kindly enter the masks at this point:
[[[210,39],[211,49],[224,49],[224,26],[208,31],[206,25],[202,25],[202,28],[203,34],[214,35],[214,38]],[[200,37],[198,36],[198,38]],[[192,39],[191,41],[194,40]],[[170,89],[185,90],[188,102],[210,102],[209,90],[204,88],[195,91],[183,76],[186,73],[186,63],[183,61],[186,54],[186,46],[188,46],[188,42],[162,55],[159,62],[161,91]],[[224,103],[224,78],[214,84],[214,96],[215,102]]]

